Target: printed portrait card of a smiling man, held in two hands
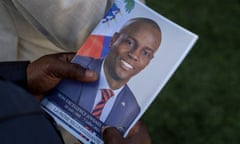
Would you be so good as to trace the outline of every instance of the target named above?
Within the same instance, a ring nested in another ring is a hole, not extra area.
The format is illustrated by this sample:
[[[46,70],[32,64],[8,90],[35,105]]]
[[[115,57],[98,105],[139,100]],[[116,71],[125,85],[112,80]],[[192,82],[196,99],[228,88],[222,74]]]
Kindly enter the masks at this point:
[[[116,0],[72,60],[98,80],[64,79],[42,106],[84,143],[103,143],[105,126],[126,136],[197,39],[141,2]]]

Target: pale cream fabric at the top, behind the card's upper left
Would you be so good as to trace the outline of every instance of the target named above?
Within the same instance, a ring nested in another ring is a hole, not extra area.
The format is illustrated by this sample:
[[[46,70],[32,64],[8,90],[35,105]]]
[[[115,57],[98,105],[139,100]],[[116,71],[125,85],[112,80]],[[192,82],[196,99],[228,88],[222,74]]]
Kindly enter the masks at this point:
[[[104,15],[107,0],[13,0],[17,9],[58,47],[76,50]]]

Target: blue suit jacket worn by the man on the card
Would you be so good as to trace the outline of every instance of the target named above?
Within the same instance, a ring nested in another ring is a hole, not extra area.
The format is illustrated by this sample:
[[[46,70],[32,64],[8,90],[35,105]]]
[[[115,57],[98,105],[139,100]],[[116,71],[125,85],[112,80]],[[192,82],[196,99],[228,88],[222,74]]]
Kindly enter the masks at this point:
[[[103,59],[93,59],[89,57],[75,56],[73,63],[78,63],[83,67],[95,70],[100,73]],[[82,83],[73,80],[63,80],[58,86],[58,90],[72,99],[88,112],[92,110],[97,94],[98,81],[93,83]],[[117,95],[117,99],[110,111],[106,125],[115,126],[120,131],[125,132],[136,116],[140,112],[140,107],[135,96],[127,85]]]

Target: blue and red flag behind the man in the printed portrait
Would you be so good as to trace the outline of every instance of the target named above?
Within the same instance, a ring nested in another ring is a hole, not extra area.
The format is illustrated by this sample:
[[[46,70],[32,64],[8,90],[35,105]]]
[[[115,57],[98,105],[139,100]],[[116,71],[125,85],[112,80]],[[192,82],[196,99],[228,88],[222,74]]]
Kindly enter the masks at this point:
[[[124,4],[122,4],[124,3]],[[128,19],[128,15],[135,6],[133,0],[116,1],[108,10],[91,35],[79,48],[77,55],[94,58],[105,57],[109,51],[109,43],[113,32]]]

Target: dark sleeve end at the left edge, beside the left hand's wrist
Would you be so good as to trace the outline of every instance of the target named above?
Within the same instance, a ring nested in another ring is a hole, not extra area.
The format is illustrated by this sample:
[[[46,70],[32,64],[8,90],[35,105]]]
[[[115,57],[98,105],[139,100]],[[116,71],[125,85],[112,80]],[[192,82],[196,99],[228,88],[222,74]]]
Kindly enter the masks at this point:
[[[29,61],[0,62],[0,77],[26,88],[26,69],[29,63]]]

